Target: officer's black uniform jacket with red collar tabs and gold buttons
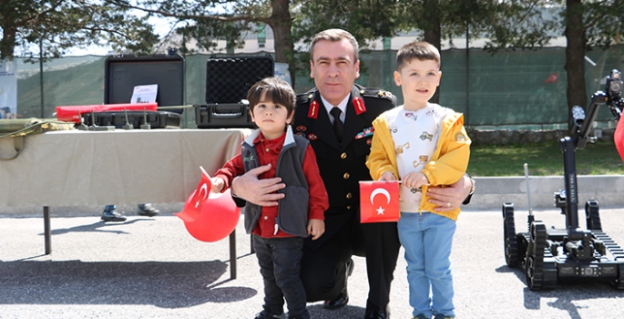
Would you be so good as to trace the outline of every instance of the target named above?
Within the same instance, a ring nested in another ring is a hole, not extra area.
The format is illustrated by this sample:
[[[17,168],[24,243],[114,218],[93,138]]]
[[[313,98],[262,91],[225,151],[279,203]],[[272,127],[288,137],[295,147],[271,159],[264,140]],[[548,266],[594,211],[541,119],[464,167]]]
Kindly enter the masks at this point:
[[[325,233],[316,241],[306,241],[308,247],[321,246],[358,213],[359,181],[371,180],[366,158],[373,139],[373,119],[395,105],[396,98],[390,92],[354,85],[341,145],[316,87],[297,97],[292,127],[296,135],[310,140],[330,201],[330,209],[325,211]]]

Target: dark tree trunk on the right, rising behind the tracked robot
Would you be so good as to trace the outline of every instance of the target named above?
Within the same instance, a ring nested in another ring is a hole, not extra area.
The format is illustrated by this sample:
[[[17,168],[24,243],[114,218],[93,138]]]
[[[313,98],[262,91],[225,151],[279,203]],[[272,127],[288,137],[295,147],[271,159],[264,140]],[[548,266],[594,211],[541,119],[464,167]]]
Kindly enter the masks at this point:
[[[568,76],[568,118],[572,107],[588,103],[585,87],[585,32],[581,0],[566,1],[566,75]],[[568,128],[569,129],[569,128]]]

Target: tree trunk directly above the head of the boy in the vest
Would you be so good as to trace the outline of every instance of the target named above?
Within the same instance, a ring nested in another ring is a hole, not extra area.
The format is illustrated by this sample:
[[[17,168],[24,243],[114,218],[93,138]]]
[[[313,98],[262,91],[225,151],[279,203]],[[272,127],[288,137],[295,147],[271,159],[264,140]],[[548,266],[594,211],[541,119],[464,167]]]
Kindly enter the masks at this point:
[[[292,43],[292,18],[289,0],[271,0],[271,22],[273,29],[275,62],[288,63],[292,87],[295,87],[294,44]]]

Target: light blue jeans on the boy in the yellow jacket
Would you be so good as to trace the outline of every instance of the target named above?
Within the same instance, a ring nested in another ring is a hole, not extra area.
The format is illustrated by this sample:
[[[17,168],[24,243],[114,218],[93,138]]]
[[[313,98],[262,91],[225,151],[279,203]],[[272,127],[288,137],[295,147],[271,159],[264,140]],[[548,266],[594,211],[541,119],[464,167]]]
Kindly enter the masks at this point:
[[[402,212],[397,227],[405,249],[413,315],[455,316],[450,259],[455,221],[428,211]]]

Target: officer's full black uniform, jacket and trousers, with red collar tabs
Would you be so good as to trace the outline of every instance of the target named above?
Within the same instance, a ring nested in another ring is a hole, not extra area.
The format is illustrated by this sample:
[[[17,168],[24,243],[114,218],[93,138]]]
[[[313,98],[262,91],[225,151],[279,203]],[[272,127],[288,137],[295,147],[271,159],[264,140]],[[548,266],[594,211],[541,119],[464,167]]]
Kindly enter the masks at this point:
[[[396,106],[396,98],[379,88],[354,85],[339,143],[321,95],[312,88],[297,97],[295,134],[310,140],[329,195],[325,232],[307,239],[302,281],[308,302],[331,300],[345,285],[345,263],[353,254],[366,256],[368,304],[384,308],[400,248],[395,222],[360,223],[360,180],[371,180],[366,167],[373,139],[373,119]]]

